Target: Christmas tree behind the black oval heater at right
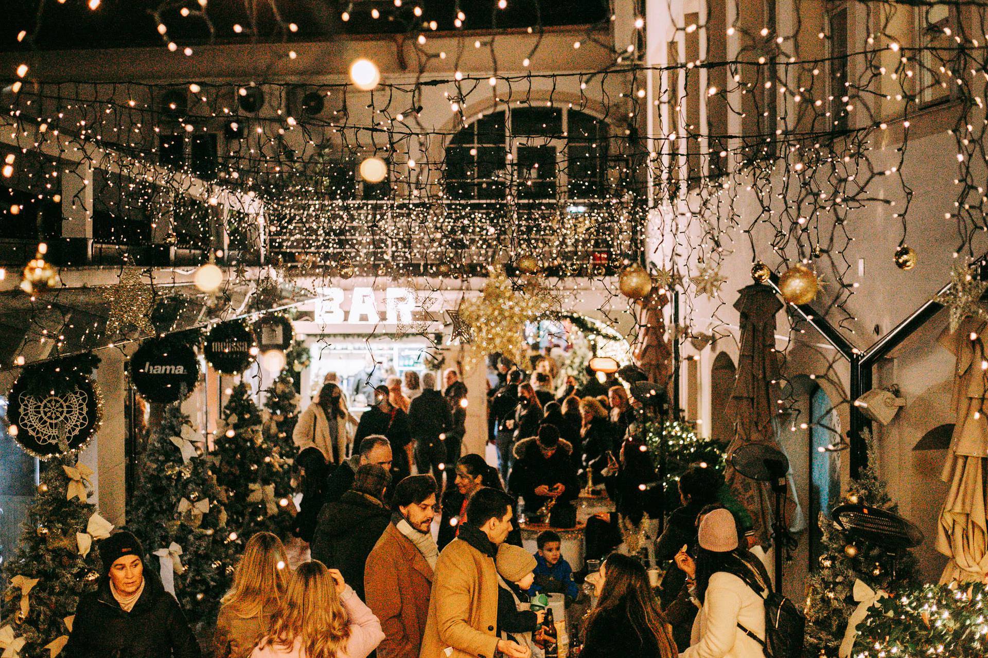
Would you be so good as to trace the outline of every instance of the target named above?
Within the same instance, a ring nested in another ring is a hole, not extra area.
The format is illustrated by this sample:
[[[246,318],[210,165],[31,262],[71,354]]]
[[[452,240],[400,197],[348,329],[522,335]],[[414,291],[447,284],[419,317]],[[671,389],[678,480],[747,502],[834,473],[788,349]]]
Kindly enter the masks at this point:
[[[851,481],[843,502],[897,513],[898,505],[878,477],[878,459],[870,434],[865,436],[865,441],[867,465],[861,477]],[[854,598],[858,580],[875,592],[894,594],[914,585],[918,574],[916,558],[911,552],[894,556],[879,546],[855,541],[822,513],[819,527],[825,552],[820,556],[819,568],[809,575],[806,645],[815,655],[832,658],[838,654],[848,618],[858,607]]]

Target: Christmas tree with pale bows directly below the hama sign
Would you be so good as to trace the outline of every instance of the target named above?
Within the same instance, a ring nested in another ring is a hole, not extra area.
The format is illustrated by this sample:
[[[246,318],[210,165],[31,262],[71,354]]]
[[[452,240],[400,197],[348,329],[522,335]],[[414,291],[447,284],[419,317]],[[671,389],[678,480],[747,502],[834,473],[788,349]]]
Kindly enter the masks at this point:
[[[127,517],[146,551],[176,558],[175,595],[191,620],[208,625],[229,589],[242,538],[227,524],[226,496],[205,442],[178,404],[166,407]]]

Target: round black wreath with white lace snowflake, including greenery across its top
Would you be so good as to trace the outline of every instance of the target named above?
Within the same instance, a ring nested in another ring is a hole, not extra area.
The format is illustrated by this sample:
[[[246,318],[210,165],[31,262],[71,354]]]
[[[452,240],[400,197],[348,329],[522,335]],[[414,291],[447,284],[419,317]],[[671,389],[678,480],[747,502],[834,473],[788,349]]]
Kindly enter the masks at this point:
[[[32,456],[80,452],[103,421],[92,352],[25,367],[8,394],[7,433]]]

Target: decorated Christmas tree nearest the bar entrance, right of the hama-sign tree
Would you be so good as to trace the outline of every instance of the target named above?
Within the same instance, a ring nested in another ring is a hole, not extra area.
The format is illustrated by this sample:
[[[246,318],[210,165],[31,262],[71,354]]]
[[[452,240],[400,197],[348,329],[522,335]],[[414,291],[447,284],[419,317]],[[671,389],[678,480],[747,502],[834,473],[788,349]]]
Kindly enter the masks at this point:
[[[262,431],[261,410],[246,383],[231,389],[223,421],[216,480],[227,492],[230,527],[243,537],[261,531],[287,537],[294,512],[290,461]]]

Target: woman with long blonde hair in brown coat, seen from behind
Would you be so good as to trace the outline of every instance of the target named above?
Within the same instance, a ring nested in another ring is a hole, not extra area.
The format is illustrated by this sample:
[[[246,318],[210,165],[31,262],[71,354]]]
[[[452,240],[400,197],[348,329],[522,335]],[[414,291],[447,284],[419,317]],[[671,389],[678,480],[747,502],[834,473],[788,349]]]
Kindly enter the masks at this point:
[[[288,558],[282,540],[258,533],[247,541],[233,587],[222,599],[214,658],[246,658],[257,641],[271,630],[271,621],[282,605],[288,587]]]

